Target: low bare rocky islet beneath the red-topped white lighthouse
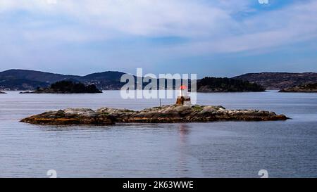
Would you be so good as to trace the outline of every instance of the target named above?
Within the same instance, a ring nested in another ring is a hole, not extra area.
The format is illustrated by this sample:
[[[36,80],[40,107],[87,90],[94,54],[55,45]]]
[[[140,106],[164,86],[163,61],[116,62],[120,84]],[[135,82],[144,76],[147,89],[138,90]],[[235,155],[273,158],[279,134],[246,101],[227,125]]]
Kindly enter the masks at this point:
[[[106,125],[114,122],[212,122],[212,121],[271,121],[287,120],[285,115],[276,115],[274,112],[262,110],[226,110],[221,106],[183,106],[165,105],[163,107],[146,108],[144,110],[120,110],[100,108],[97,111],[90,109],[66,109],[49,111],[21,122],[31,124],[94,124]]]

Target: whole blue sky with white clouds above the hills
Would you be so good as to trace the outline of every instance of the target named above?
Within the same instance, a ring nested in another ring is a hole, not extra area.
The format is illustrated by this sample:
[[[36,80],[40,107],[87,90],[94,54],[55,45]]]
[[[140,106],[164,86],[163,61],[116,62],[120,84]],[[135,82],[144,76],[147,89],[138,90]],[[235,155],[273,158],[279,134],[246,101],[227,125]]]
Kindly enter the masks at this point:
[[[0,0],[0,71],[317,72],[316,0]]]

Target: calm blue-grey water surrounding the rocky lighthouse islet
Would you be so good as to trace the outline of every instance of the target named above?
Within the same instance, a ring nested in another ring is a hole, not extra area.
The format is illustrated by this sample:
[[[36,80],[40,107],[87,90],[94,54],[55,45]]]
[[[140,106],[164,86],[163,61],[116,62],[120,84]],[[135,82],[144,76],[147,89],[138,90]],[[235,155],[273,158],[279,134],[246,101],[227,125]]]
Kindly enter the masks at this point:
[[[282,113],[285,122],[42,127],[23,117],[63,108],[130,108],[158,100],[104,94],[0,94],[0,177],[317,177],[317,94],[199,94],[199,104]],[[170,104],[173,101],[162,101]]]

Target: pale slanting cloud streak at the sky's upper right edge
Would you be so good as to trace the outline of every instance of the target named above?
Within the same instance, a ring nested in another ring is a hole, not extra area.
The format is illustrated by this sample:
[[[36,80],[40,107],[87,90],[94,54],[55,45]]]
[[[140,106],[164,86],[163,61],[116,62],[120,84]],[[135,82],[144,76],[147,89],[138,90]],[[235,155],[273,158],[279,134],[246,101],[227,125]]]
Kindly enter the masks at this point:
[[[274,48],[317,38],[317,2],[293,4],[282,10],[261,13],[242,20],[231,33],[175,46],[176,52],[236,53]],[[229,31],[228,27],[228,31]]]

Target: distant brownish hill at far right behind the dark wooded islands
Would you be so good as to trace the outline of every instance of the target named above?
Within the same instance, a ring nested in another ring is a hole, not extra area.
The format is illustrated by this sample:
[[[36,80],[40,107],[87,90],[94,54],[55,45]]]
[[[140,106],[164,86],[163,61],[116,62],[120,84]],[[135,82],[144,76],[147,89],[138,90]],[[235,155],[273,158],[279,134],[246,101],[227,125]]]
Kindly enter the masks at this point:
[[[316,72],[261,72],[247,73],[232,79],[242,79],[256,84],[261,84],[266,89],[285,89],[302,84],[311,84],[317,82]]]

